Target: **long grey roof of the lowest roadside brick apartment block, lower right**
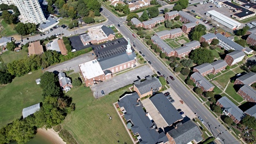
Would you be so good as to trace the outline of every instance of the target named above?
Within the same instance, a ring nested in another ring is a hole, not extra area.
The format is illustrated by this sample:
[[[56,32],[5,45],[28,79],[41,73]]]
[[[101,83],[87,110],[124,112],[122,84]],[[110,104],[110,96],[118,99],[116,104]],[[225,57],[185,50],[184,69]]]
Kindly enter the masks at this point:
[[[232,103],[232,101],[229,100],[227,97],[221,97],[218,101],[236,119],[240,121],[243,118],[243,111],[234,103]]]

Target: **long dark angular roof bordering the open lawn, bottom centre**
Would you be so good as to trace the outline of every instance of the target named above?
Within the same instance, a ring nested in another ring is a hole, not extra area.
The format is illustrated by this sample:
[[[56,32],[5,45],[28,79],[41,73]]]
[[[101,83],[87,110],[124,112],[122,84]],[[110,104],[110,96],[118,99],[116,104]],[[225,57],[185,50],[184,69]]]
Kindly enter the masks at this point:
[[[131,130],[134,134],[139,134],[141,137],[140,143],[160,143],[167,142],[168,138],[164,132],[156,131],[155,128],[150,128],[153,123],[150,121],[146,113],[142,109],[142,105],[137,105],[137,99],[140,98],[137,93],[126,94],[119,99],[119,107],[125,108],[125,119],[131,120],[133,126]]]

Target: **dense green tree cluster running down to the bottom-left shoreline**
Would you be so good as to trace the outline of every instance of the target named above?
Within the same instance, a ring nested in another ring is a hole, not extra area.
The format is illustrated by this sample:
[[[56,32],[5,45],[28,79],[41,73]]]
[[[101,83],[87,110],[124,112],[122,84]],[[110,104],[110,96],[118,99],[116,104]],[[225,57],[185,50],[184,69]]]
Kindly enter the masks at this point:
[[[36,134],[37,128],[51,128],[60,124],[67,113],[74,111],[72,98],[65,96],[59,86],[58,76],[46,71],[41,77],[43,103],[40,110],[23,119],[16,119],[0,129],[0,143],[26,143]]]

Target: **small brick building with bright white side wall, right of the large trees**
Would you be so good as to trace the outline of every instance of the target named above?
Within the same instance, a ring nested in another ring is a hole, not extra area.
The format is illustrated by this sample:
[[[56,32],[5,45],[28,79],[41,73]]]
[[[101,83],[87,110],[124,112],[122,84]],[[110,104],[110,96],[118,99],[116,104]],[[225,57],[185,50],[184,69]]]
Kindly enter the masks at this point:
[[[238,62],[241,62],[244,58],[245,54],[243,51],[233,51],[230,52],[229,54],[227,54],[225,56],[225,62],[229,65],[229,66],[233,66]]]

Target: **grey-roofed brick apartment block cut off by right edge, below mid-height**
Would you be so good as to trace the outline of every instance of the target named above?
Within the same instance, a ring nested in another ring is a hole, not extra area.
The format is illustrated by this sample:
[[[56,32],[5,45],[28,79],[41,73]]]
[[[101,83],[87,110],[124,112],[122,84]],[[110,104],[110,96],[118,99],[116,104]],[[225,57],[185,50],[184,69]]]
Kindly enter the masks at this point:
[[[238,94],[243,97],[244,100],[256,103],[256,90],[249,85],[244,85],[238,90]]]

